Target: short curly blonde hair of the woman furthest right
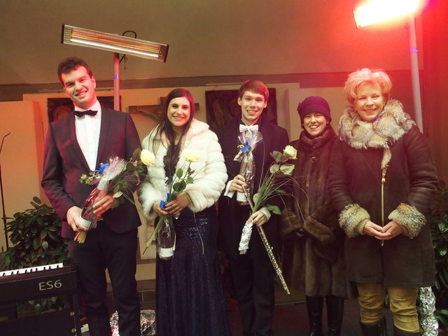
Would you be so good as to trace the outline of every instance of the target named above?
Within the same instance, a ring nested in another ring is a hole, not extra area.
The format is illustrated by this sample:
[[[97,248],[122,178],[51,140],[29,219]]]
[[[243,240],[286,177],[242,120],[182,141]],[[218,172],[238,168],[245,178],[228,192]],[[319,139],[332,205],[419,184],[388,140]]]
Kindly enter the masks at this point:
[[[384,101],[388,102],[389,98],[391,98],[391,78],[381,69],[363,68],[350,73],[349,78],[345,82],[345,97],[351,106],[355,104],[358,97],[358,88],[367,83],[378,84]]]

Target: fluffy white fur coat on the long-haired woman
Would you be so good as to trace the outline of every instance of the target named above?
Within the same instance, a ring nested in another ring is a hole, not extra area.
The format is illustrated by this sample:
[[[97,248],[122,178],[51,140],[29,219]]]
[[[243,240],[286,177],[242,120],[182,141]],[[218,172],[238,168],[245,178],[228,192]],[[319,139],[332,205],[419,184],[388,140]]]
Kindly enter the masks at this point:
[[[155,132],[148,134],[142,142],[142,148],[153,151],[154,136]],[[139,201],[144,216],[150,220],[157,216],[153,211],[153,204],[165,200],[166,197],[163,158],[167,155],[167,147],[167,139],[162,139],[157,153],[154,153],[155,165],[148,166],[148,179],[141,183],[139,188]],[[187,169],[189,162],[186,162],[185,156],[190,150],[195,151],[200,160],[191,163],[190,167],[196,173],[195,181],[188,184],[184,192],[191,200],[188,207],[191,211],[198,212],[211,207],[218,200],[228,176],[218,137],[209,130],[209,125],[196,119],[192,120],[185,136],[176,171],[179,168]]]

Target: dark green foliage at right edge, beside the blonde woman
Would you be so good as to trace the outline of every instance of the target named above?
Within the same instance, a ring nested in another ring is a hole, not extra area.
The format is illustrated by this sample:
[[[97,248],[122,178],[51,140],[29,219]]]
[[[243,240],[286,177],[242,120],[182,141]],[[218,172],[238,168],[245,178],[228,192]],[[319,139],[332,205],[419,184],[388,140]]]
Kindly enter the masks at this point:
[[[435,318],[448,327],[448,190],[440,181],[428,221],[435,251]]]

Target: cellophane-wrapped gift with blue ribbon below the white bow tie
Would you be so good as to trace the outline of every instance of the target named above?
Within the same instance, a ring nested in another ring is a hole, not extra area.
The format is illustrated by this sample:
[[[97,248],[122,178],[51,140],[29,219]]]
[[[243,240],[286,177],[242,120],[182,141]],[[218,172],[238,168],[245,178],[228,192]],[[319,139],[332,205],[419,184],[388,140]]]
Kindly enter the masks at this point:
[[[246,190],[249,195],[253,192],[253,178],[255,177],[255,161],[253,160],[253,150],[255,146],[263,139],[258,131],[245,131],[239,134],[239,152],[234,160],[241,162],[239,174],[244,177]],[[244,193],[237,193],[237,201],[241,205],[248,204]]]

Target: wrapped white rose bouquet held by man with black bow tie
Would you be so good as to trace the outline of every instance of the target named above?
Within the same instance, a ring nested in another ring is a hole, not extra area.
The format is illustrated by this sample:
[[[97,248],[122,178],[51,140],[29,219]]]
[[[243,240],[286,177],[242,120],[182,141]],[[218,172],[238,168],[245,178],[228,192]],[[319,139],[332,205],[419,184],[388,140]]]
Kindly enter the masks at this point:
[[[111,155],[109,162],[101,164],[98,170],[80,176],[80,183],[94,184],[87,200],[84,202],[79,221],[87,229],[93,230],[97,227],[99,214],[94,213],[94,204],[107,194],[113,193],[113,197],[119,202],[114,207],[123,204],[125,198],[134,203],[127,195],[130,191],[129,183],[140,183],[140,174],[145,172],[145,165],[154,165],[154,155],[149,151],[138,148],[132,154],[132,158],[126,161],[116,155]],[[75,240],[83,244],[87,231],[78,231]]]

